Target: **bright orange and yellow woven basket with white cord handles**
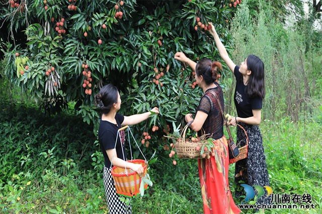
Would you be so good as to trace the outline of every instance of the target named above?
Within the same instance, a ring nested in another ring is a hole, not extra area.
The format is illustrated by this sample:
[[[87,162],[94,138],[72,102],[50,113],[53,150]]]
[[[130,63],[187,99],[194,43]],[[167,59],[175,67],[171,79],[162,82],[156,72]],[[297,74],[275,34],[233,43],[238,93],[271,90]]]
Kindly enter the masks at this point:
[[[127,197],[135,197],[140,193],[140,184],[142,178],[145,177],[147,173],[147,162],[145,160],[128,160],[127,162],[141,164],[144,169],[144,174],[140,177],[135,171],[132,169],[123,169],[117,166],[114,166],[111,170],[111,174],[113,176],[116,193],[121,196]],[[144,184],[144,190],[147,189],[147,184]]]

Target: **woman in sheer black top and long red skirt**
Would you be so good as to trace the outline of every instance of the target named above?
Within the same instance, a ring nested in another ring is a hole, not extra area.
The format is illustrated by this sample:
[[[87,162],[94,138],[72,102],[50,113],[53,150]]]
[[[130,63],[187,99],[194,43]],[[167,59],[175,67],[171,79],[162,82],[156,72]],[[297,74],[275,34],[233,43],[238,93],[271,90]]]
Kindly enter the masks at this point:
[[[234,213],[240,209],[234,203],[228,184],[229,157],[227,155],[228,144],[223,135],[223,118],[217,99],[222,109],[224,108],[223,94],[221,87],[216,82],[217,70],[221,70],[219,62],[212,62],[209,59],[202,59],[198,63],[193,62],[184,53],[175,54],[175,59],[187,63],[196,72],[196,81],[203,89],[203,96],[200,99],[196,110],[195,118],[192,114],[185,116],[188,125],[201,135],[203,128],[209,138],[214,139],[212,153],[206,158],[198,159],[199,178],[201,194],[203,199],[204,213]],[[217,97],[217,98],[216,98]]]

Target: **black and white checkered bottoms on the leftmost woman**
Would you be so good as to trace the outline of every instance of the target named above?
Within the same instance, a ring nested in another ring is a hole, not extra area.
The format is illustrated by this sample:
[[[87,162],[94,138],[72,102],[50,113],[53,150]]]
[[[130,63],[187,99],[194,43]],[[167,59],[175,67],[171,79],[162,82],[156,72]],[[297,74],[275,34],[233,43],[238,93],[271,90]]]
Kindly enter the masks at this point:
[[[111,169],[104,166],[104,187],[107,205],[109,207],[110,214],[132,214],[131,203],[129,206],[122,202],[119,195],[116,193],[114,180],[111,174]]]

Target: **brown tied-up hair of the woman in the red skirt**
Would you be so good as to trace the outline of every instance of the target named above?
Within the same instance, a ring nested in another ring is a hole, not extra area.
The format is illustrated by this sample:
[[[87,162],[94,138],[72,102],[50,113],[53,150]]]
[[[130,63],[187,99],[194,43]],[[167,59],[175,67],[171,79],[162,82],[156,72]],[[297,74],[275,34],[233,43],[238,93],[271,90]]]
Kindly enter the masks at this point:
[[[217,80],[217,68],[222,70],[220,62],[212,62],[209,59],[201,59],[196,65],[197,76],[202,76],[207,85]]]

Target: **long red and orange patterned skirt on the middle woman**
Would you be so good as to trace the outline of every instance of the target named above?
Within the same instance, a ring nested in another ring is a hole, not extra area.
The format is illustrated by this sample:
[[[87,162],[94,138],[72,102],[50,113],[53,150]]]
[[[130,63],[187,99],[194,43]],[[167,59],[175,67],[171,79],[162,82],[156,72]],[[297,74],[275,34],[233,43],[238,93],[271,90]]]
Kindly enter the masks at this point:
[[[238,214],[228,184],[228,144],[226,137],[214,141],[214,156],[198,159],[199,177],[205,214]]]

